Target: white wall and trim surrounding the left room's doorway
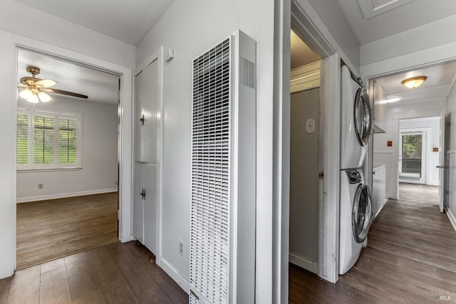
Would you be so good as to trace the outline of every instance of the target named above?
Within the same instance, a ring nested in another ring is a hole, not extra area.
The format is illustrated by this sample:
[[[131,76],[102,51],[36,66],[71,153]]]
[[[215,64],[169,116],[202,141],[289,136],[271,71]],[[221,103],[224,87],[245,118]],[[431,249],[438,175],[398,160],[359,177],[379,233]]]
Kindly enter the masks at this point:
[[[31,18],[33,16],[33,18]],[[33,28],[33,31],[31,31]],[[32,37],[33,39],[26,38]],[[121,71],[123,79],[123,115],[131,115],[131,69],[135,65],[135,47],[117,41],[108,36],[95,33],[87,28],[77,26],[63,19],[31,9],[16,1],[5,0],[0,10],[0,121],[4,127],[0,130],[0,138],[4,141],[0,149],[0,278],[11,276],[14,268],[14,201],[16,200],[16,170],[14,156],[16,123],[16,56],[15,45],[32,46],[66,57],[77,58],[94,65],[102,65],[108,70]],[[110,64],[108,64],[110,63]],[[128,77],[129,74],[129,77]],[[125,83],[125,81],[129,81]],[[125,119],[122,132],[125,132],[125,146],[131,147],[131,120]],[[123,157],[131,157],[128,150]],[[128,166],[131,169],[131,164]],[[125,170],[124,170],[125,171]],[[125,182],[130,180],[125,172]],[[128,188],[130,189],[130,188]],[[130,196],[129,190],[125,192]],[[127,197],[122,199],[127,200]],[[129,226],[125,219],[123,226]],[[125,229],[127,230],[127,229]],[[128,236],[122,236],[123,239]]]

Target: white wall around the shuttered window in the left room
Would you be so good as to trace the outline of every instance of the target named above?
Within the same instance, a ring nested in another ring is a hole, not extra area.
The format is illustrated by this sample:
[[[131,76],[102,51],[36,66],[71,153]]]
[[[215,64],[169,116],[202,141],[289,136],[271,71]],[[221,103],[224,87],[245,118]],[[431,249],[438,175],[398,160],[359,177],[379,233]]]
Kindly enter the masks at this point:
[[[21,100],[21,99],[19,99]],[[26,101],[19,108],[33,108]],[[17,173],[18,202],[116,191],[118,180],[118,105],[55,97],[36,110],[81,114],[82,169]],[[43,184],[43,189],[38,189]]]

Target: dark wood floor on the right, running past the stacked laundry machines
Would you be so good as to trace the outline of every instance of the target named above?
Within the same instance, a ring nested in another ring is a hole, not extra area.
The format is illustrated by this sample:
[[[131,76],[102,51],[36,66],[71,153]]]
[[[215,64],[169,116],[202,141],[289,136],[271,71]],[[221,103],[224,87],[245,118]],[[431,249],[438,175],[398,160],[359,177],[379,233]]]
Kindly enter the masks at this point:
[[[336,284],[289,266],[289,303],[456,303],[456,232],[436,187],[400,184],[356,265]]]

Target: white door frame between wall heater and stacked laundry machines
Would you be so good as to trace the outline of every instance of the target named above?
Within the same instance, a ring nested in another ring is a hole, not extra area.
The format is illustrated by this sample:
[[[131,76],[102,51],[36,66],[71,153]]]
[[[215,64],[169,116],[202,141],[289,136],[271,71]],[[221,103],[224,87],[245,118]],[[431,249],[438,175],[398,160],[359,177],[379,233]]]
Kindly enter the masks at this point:
[[[320,100],[324,109],[323,156],[325,169],[323,199],[318,206],[318,273],[327,281],[338,280],[338,223],[340,188],[340,64],[341,57],[352,69],[355,66],[345,56],[336,40],[309,0],[278,1],[274,33],[274,198],[271,210],[272,268],[271,290],[257,288],[257,300],[264,303],[288,303],[289,300],[289,159],[290,159],[290,30],[293,29],[308,46],[318,53],[321,61]],[[258,239],[258,238],[257,238]],[[263,247],[263,246],[261,246]],[[258,243],[257,243],[258,248]],[[264,252],[257,251],[257,266],[264,265]],[[269,260],[270,261],[270,260]],[[264,276],[257,267],[257,286]],[[265,283],[268,285],[268,283]]]

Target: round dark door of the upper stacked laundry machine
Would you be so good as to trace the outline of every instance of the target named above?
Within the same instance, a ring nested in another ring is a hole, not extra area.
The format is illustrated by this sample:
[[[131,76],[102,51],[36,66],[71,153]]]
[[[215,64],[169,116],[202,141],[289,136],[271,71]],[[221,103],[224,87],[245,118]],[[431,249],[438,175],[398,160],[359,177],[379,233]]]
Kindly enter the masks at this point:
[[[360,88],[356,92],[354,107],[356,137],[358,137],[360,145],[365,146],[368,143],[372,128],[371,105],[365,88]]]

